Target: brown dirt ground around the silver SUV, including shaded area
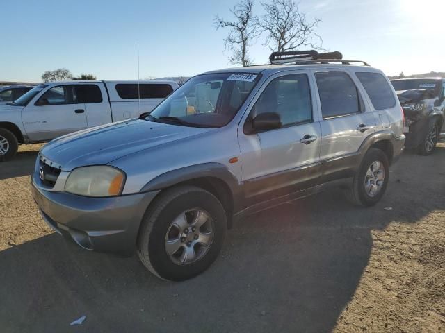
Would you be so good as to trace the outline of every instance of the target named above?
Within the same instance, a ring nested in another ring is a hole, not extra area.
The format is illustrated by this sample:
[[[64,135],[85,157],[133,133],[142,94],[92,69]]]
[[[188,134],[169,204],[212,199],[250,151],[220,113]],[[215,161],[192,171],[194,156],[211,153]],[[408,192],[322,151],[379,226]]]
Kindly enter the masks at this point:
[[[51,232],[31,198],[39,148],[0,164],[0,332],[445,331],[445,144],[405,152],[375,207],[330,190],[245,219],[181,283]]]

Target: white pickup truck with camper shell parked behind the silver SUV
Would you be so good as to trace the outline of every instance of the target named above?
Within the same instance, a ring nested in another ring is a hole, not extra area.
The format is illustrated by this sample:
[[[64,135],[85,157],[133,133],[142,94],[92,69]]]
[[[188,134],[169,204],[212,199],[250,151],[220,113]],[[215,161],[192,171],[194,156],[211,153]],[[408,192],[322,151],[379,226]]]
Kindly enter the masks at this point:
[[[151,112],[178,88],[173,81],[63,81],[43,83],[0,106],[0,161],[20,144]]]

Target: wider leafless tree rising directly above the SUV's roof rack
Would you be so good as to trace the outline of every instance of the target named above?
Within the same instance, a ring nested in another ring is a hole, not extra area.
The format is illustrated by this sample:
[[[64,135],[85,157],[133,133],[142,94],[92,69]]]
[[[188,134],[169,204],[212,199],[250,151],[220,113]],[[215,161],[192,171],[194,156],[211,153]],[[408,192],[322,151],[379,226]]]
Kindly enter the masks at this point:
[[[301,46],[321,49],[323,40],[315,33],[320,19],[309,22],[293,0],[272,0],[261,3],[266,14],[257,19],[261,33],[266,33],[265,45],[272,51],[291,51]]]

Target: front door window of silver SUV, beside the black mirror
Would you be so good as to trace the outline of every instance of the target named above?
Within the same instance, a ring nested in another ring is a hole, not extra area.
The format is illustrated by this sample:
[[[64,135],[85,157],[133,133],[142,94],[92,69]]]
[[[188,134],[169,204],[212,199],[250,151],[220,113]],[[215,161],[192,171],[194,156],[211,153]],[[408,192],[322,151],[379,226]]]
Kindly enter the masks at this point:
[[[306,74],[275,78],[261,93],[250,117],[265,112],[277,112],[282,126],[312,121],[312,103]]]

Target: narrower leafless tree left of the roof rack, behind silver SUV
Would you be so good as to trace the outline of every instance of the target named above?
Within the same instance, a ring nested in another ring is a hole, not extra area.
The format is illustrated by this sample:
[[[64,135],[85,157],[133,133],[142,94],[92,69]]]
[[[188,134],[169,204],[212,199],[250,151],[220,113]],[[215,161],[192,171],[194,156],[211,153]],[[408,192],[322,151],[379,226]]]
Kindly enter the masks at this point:
[[[253,0],[243,0],[230,10],[234,16],[233,21],[225,21],[218,15],[214,19],[216,29],[229,28],[229,35],[224,40],[226,49],[232,51],[229,62],[243,66],[251,65],[253,60],[248,56],[251,41],[258,35],[257,24],[253,17]]]

